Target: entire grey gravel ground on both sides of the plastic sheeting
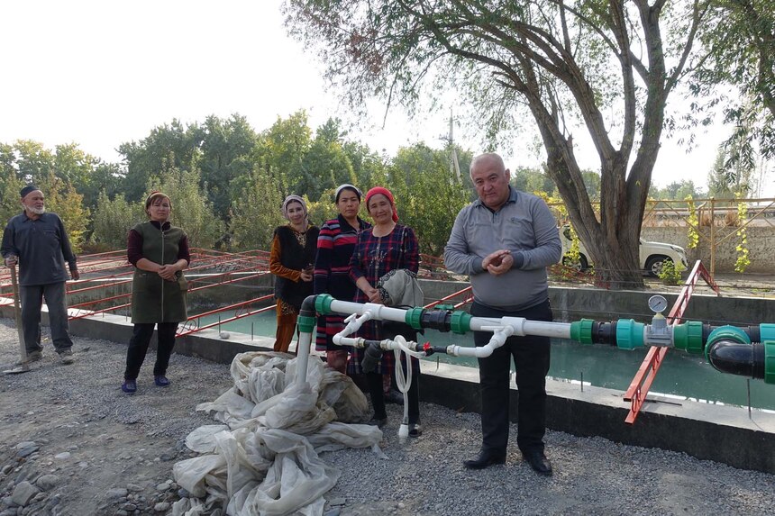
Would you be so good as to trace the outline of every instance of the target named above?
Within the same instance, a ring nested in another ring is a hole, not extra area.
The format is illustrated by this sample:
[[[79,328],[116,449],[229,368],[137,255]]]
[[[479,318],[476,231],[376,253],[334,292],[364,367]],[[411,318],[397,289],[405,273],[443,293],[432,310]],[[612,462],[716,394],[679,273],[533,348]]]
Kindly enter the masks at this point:
[[[0,320],[0,364],[16,359],[13,321]],[[166,389],[150,364],[139,392],[119,389],[124,344],[76,339],[77,362],[60,365],[47,341],[42,363],[0,376],[0,516],[164,514],[186,495],[172,481],[195,412],[231,386],[228,367],[174,355]],[[153,355],[149,354],[148,361]],[[424,435],[401,444],[401,407],[388,405],[382,448],[324,453],[342,470],[326,515],[773,514],[775,475],[659,449],[549,431],[554,475],[535,475],[516,450],[506,466],[468,471],[479,416],[423,403]],[[515,426],[512,433],[515,435]]]

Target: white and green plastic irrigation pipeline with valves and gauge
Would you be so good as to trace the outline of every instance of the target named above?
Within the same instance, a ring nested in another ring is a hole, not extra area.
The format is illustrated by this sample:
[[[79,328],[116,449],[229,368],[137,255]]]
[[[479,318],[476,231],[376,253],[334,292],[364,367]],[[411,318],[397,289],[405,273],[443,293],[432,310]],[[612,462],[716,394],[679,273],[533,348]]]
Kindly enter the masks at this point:
[[[667,301],[661,295],[649,299],[654,312],[651,323],[621,319],[618,321],[593,321],[581,319],[573,322],[530,321],[522,317],[484,318],[473,317],[468,312],[444,309],[391,308],[375,303],[351,303],[338,301],[331,295],[312,295],[305,299],[299,312],[298,357],[302,365],[309,355],[315,314],[347,314],[347,326],[334,336],[334,342],[355,348],[377,347],[380,350],[409,349],[424,354],[445,353],[451,356],[488,357],[508,337],[537,335],[569,339],[584,346],[606,344],[618,349],[633,350],[644,346],[677,349],[690,354],[704,354],[716,370],[723,373],[750,376],[775,384],[775,324],[761,323],[755,326],[711,326],[702,321],[686,321],[670,326],[662,312]],[[401,342],[396,339],[367,340],[348,337],[365,321],[404,322],[415,330],[425,328],[451,331],[464,335],[470,331],[493,333],[488,344],[479,348],[457,345],[432,346],[430,343]],[[305,381],[306,367],[299,367],[299,381]]]

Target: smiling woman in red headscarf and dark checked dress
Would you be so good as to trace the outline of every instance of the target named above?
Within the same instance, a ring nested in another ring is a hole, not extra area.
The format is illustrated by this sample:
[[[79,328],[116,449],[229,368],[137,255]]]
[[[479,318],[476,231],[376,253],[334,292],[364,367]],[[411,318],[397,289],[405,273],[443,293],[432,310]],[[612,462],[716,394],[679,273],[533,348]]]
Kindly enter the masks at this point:
[[[387,188],[377,186],[366,193],[366,209],[374,226],[360,231],[358,241],[350,260],[350,277],[358,291],[355,294],[356,303],[384,303],[382,294],[378,290],[379,278],[396,269],[405,269],[410,275],[416,275],[420,265],[420,252],[417,245],[415,231],[412,228],[398,223],[398,212],[393,194]],[[384,294],[384,291],[382,291]],[[378,321],[368,321],[358,333],[360,337],[371,340],[392,338],[395,333],[388,335],[383,324]],[[407,335],[404,335],[407,337]],[[409,335],[409,339],[415,339],[416,335]],[[348,372],[351,375],[364,373],[361,362],[364,358],[364,350],[356,349],[355,358],[350,360]],[[402,357],[404,357],[402,355]],[[371,403],[374,406],[374,417],[369,424],[376,424],[380,428],[387,423],[385,411],[385,397],[382,389],[382,375],[390,375],[395,367],[395,358],[392,352],[384,353],[378,363],[377,371],[365,373],[369,384]],[[418,437],[420,430],[420,402],[419,379],[420,362],[416,358],[411,359],[412,372],[415,380],[408,391],[408,415],[409,435]],[[406,370],[406,363],[402,364]]]

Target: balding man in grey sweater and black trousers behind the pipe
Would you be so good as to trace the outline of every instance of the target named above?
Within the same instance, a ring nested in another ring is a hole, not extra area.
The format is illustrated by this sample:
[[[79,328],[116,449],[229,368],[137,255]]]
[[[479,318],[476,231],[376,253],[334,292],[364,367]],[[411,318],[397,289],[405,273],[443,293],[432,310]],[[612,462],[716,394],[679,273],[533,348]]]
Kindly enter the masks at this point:
[[[552,321],[546,267],[561,258],[552,213],[539,197],[509,186],[509,171],[495,153],[474,158],[470,176],[479,199],[458,213],[444,264],[470,276],[471,315]],[[477,346],[486,345],[491,337],[490,332],[474,332]],[[552,475],[543,451],[549,355],[548,338],[525,336],[509,337],[491,356],[479,358],[482,446],[464,466],[481,469],[506,462],[513,358],[519,390],[516,443],[537,473]]]

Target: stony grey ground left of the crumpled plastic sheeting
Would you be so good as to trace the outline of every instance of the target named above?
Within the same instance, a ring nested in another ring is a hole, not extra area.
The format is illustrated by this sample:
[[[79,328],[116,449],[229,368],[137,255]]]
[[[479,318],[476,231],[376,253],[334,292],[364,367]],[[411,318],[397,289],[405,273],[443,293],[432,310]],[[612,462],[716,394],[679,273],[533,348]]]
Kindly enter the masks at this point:
[[[44,346],[31,372],[0,376],[0,514],[165,513],[178,500],[172,466],[189,453],[182,439],[213,422],[196,404],[230,386],[228,367],[175,355],[160,388],[149,353],[128,396],[125,346],[77,339],[69,366]],[[0,320],[0,364],[17,349],[12,321]]]

